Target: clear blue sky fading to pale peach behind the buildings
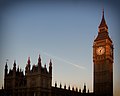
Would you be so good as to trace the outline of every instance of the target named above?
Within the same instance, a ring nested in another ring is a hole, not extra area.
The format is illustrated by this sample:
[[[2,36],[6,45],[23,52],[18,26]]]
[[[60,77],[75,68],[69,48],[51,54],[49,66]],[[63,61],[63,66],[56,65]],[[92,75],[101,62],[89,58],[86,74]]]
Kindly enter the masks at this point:
[[[52,85],[66,84],[93,92],[92,45],[104,8],[109,36],[114,43],[114,96],[119,96],[120,44],[119,2],[117,0],[0,1],[0,87],[4,66],[24,71],[27,59],[42,66],[53,63]]]

